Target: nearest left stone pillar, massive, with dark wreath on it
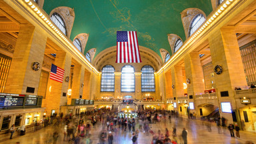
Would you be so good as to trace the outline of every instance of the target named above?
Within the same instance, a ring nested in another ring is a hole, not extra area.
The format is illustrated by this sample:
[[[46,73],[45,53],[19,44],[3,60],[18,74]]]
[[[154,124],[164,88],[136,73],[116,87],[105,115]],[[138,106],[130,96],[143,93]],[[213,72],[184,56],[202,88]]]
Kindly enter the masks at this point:
[[[43,65],[47,35],[32,25],[21,24],[18,39],[5,85],[5,93],[36,95],[39,87],[41,68],[32,69],[34,62]],[[27,87],[35,88],[34,93],[26,93]]]

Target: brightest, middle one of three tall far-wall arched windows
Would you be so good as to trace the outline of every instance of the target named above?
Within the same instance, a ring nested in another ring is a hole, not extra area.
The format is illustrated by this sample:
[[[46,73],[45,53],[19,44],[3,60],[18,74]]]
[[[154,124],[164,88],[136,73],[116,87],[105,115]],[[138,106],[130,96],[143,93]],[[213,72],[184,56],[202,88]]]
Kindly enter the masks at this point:
[[[133,66],[125,65],[121,71],[121,92],[135,91],[135,71]]]

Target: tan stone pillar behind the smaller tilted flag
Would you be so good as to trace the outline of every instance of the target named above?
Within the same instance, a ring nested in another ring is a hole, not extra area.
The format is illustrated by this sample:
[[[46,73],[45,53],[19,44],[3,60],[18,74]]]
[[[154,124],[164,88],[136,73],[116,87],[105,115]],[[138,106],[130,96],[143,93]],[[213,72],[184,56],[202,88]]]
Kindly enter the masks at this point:
[[[65,52],[56,53],[54,65],[64,69],[63,83],[49,79],[50,90],[47,92],[43,103],[45,104],[45,112],[47,115],[51,115],[51,110],[55,110],[55,113],[59,113],[59,107],[67,104],[67,97],[63,97],[63,93],[67,93],[69,83],[65,82],[65,77],[69,76],[71,69],[71,56]]]

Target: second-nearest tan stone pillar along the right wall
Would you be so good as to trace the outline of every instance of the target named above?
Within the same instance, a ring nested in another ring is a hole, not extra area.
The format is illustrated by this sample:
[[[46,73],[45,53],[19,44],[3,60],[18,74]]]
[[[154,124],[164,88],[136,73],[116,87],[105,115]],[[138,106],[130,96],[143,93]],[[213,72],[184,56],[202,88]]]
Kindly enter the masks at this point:
[[[205,83],[203,83],[203,68],[199,53],[189,53],[185,56],[185,73],[190,84],[187,84],[187,95],[201,95],[205,90]]]

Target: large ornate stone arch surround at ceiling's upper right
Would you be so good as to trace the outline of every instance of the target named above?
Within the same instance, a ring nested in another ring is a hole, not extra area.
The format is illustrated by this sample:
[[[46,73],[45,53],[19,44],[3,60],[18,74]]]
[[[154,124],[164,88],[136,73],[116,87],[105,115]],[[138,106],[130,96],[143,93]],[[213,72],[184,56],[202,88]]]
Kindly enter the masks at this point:
[[[205,13],[201,9],[197,8],[188,8],[181,12],[181,21],[183,23],[186,39],[189,38],[189,29],[191,22],[193,21],[193,18],[198,14],[203,14],[205,19],[207,18]]]

